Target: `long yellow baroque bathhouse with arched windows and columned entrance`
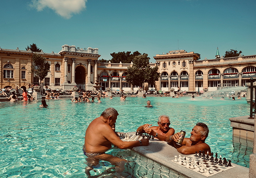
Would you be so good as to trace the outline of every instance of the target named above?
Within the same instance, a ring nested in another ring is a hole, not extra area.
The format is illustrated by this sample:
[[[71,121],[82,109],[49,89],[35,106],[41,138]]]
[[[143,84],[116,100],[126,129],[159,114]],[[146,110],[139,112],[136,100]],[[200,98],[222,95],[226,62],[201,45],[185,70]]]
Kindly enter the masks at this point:
[[[70,90],[77,86],[83,90],[94,90],[99,84],[101,90],[136,90],[140,86],[132,86],[126,82],[126,70],[131,64],[113,64],[98,62],[98,48],[76,48],[63,45],[58,53],[44,53],[50,70],[44,81],[38,81],[30,73],[32,55],[35,52],[0,48],[0,88],[8,86],[26,86],[42,82],[51,89]],[[156,86],[144,84],[145,90],[186,90],[198,91],[207,88],[215,91],[224,87],[244,86],[250,78],[256,77],[256,55],[198,60],[194,52],[173,50],[166,54],[154,56],[160,78]]]

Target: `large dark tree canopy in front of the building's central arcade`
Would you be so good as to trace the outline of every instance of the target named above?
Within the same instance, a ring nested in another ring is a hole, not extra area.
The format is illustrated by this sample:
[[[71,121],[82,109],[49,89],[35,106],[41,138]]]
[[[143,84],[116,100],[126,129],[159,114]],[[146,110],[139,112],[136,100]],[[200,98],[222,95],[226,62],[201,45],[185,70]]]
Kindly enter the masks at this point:
[[[148,54],[145,53],[134,57],[132,67],[127,70],[126,81],[129,84],[141,87],[144,82],[155,84],[155,81],[158,81],[158,66],[150,68],[149,60]]]

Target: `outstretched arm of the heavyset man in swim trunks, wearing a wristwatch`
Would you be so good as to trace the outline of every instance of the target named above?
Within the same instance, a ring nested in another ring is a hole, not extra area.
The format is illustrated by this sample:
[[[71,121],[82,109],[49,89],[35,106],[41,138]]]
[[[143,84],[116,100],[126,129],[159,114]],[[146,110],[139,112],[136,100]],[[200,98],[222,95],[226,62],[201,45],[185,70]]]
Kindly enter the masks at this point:
[[[140,144],[139,140],[131,141],[131,142],[123,142],[122,140],[120,140],[120,138],[116,135],[116,133],[114,132],[114,130],[112,130],[110,126],[106,127],[102,131],[102,134],[108,141],[110,141],[112,144],[114,144],[120,149],[132,148],[134,146],[147,146],[149,144],[149,140],[147,138],[140,140],[142,144]]]

